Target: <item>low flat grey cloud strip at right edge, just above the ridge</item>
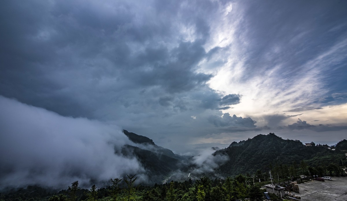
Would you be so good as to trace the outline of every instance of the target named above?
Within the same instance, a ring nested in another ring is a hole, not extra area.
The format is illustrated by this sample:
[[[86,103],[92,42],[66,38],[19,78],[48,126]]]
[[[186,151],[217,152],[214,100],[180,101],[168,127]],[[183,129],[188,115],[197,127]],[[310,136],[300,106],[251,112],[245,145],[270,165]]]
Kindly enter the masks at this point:
[[[288,125],[288,128],[291,130],[302,130],[302,129],[309,129],[314,130],[316,132],[325,132],[325,131],[339,131],[339,130],[345,130],[347,129],[347,126],[345,125],[311,125],[307,124],[306,121],[302,121],[301,119],[298,119],[296,123]]]

